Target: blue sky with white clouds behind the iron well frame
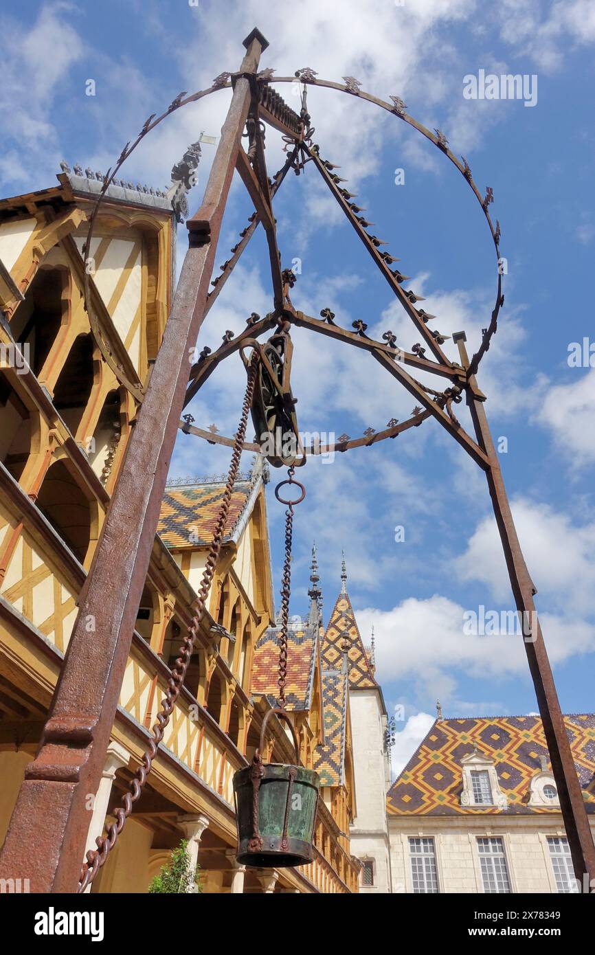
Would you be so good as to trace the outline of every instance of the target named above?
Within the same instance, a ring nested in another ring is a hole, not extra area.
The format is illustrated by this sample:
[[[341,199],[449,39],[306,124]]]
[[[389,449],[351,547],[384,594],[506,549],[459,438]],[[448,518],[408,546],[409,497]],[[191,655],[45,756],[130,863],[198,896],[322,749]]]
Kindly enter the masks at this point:
[[[59,160],[105,171],[144,119],[181,90],[210,85],[238,68],[253,26],[270,47],[262,66],[279,75],[309,66],[363,89],[402,96],[408,112],[440,128],[470,162],[478,187],[494,189],[493,217],[508,263],[499,332],[478,383],[488,395],[495,437],[508,441],[502,469],[564,711],[592,711],[595,613],[593,467],[595,371],[568,365],[568,348],[595,342],[591,275],[595,251],[592,122],[595,11],[590,0],[302,0],[262,11],[256,0],[35,3],[5,0],[0,115],[0,186],[8,196],[53,184]],[[467,100],[463,77],[536,74],[538,100]],[[96,96],[85,96],[87,79]],[[290,86],[279,92],[297,105]],[[218,135],[228,93],[169,118],[147,138],[123,175],[163,187],[186,145],[204,130]],[[321,155],[341,165],[372,231],[388,241],[408,287],[424,294],[434,327],[465,329],[478,347],[496,295],[493,246],[478,203],[431,143],[354,97],[312,90],[309,108]],[[282,164],[279,138],[267,136],[269,173]],[[196,208],[213,147],[203,147]],[[405,184],[394,184],[394,170]],[[219,262],[237,241],[250,203],[234,183],[223,221]],[[310,164],[287,177],[276,201],[284,266],[301,259],[296,308],[330,307],[346,328],[362,318],[369,334],[393,329],[405,349],[418,340],[368,255]],[[185,229],[179,236],[179,261]],[[251,311],[271,308],[262,234],[244,254],[202,329],[217,346],[225,329],[244,328]],[[294,392],[305,431],[361,435],[403,419],[414,402],[359,350],[294,336]],[[445,350],[452,357],[452,343]],[[595,352],[595,345],[593,348]],[[595,355],[593,356],[595,366]],[[429,380],[429,379],[425,379]],[[197,423],[236,427],[244,370],[236,356],[194,401]],[[467,430],[463,406],[457,414]],[[226,468],[226,453],[181,436],[172,475]],[[249,466],[246,456],[245,466]],[[276,477],[276,474],[273,474]],[[519,637],[467,636],[465,611],[512,608],[485,478],[435,422],[370,449],[308,464],[308,497],[295,519],[292,612],[307,609],[308,562],[316,540],[327,615],[346,552],[349,591],[364,640],[375,628],[378,676],[397,724],[395,765],[435,713],[536,710]],[[268,489],[275,587],[282,559],[283,510]],[[396,524],[405,541],[394,541]],[[290,661],[289,661],[290,666]]]

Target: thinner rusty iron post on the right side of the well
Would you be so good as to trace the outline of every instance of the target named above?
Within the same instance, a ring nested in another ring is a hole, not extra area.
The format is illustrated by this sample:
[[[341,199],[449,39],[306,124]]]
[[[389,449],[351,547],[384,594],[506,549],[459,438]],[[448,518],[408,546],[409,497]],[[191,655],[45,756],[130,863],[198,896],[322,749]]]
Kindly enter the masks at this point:
[[[461,365],[467,369],[469,368],[469,356],[464,344],[464,332],[458,332],[453,338],[457,342]],[[470,385],[475,388],[475,375],[471,376]],[[489,458],[489,467],[485,474],[490,498],[498,524],[510,583],[521,618],[524,647],[542,716],[543,732],[551,758],[552,772],[558,787],[564,828],[572,854],[574,872],[581,886],[583,886],[585,874],[589,881],[595,879],[595,845],[586,815],[581,783],[570,750],[568,733],[566,732],[560,701],[554,684],[554,676],[543,642],[542,628],[535,609],[533,596],[537,591],[522,556],[521,544],[512,518],[499,459],[490,433],[483,402],[474,397],[472,389],[467,389],[467,403],[473,419],[478,444]],[[527,623],[530,623],[531,634],[527,634],[527,637],[525,637]]]

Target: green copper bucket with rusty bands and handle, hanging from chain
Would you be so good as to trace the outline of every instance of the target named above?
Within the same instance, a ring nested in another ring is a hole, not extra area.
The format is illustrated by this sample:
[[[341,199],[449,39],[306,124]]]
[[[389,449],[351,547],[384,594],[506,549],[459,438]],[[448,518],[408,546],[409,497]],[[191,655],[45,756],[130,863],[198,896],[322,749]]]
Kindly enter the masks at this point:
[[[275,713],[291,730],[296,763],[299,750],[293,726],[283,710],[263,720],[260,747],[250,766],[233,777],[240,864],[254,868],[308,865],[318,805],[318,774],[303,766],[263,763],[266,723]]]

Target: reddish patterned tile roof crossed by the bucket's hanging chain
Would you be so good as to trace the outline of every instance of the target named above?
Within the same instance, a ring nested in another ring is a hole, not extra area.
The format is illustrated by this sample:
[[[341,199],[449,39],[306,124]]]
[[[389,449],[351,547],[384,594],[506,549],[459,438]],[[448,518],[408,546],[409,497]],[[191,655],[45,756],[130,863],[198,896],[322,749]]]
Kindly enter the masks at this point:
[[[316,630],[306,624],[289,624],[287,629],[286,708],[309,710],[316,667]],[[277,698],[279,672],[279,629],[265,630],[254,651],[252,693]]]

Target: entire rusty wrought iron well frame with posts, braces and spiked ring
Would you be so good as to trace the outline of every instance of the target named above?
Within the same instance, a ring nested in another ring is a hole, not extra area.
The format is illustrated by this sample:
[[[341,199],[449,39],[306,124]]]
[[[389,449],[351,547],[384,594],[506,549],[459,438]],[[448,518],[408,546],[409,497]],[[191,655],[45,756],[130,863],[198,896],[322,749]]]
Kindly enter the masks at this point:
[[[89,827],[86,798],[88,793],[97,790],[116,716],[124,667],[131,647],[178,429],[234,447],[233,459],[239,459],[243,448],[260,450],[258,445],[245,442],[242,434],[232,439],[202,432],[192,426],[187,416],[181,420],[182,410],[224,358],[247,347],[271,329],[281,330],[288,323],[289,326],[307,328],[367,350],[385,371],[413,395],[414,414],[407,421],[398,423],[392,420],[385,431],[370,432],[356,440],[342,435],[335,443],[334,450],[347,451],[370,445],[407,431],[426,419],[435,418],[471,456],[486,476],[521,622],[524,626],[527,620],[537,620],[533,599],[536,590],[521,553],[499,458],[485,414],[485,395],[479,390],[477,381],[479,364],[497,330],[499,309],[503,303],[501,270],[498,274],[496,304],[491,321],[483,330],[478,351],[469,358],[465,335],[461,332],[453,336],[459,362],[451,361],[441,348],[444,336],[430,327],[434,316],[417,308],[419,296],[403,288],[406,277],[391,268],[395,261],[393,256],[381,251],[382,241],[367,231],[370,223],[359,215],[362,210],[352,202],[354,197],[348,190],[342,187],[341,180],[334,173],[335,167],[322,159],[319,148],[312,143],[305,96],[308,86],[325,87],[356,96],[388,111],[434,142],[473,190],[491,231],[499,260],[499,223],[494,225],[490,217],[492,190],[488,189],[485,196],[481,195],[466,159],[461,161],[453,155],[448,140],[440,130],[432,133],[416,122],[407,113],[407,105],[399,96],[391,96],[390,101],[378,99],[365,93],[352,76],[343,77],[344,83],[335,83],[320,79],[309,68],[298,70],[293,76],[275,76],[273,79],[274,71],[259,72],[261,54],[267,46],[263,34],[256,29],[252,31],[244,40],[245,55],[236,73],[220,74],[209,89],[192,96],[178,96],[161,116],[149,117],[138,138],[132,145],[127,144],[114,170],[105,177],[103,192],[114,179],[121,163],[159,122],[189,102],[231,87],[233,95],[202,205],[186,223],[189,248],[146,391],[126,382],[123,370],[118,367],[115,357],[109,353],[96,330],[97,344],[106,361],[114,368],[120,381],[134,390],[141,404],[102,536],[97,544],[92,572],[80,596],[78,616],[53,695],[52,709],[39,750],[27,768],[0,854],[0,878],[27,878],[32,892],[75,892],[85,884],[84,880],[81,881],[80,871]],[[299,115],[273,89],[273,83],[296,82],[299,82],[303,93]],[[280,131],[287,144],[287,160],[271,180],[268,179],[265,161],[266,125]],[[248,138],[247,150],[242,145],[244,129]],[[334,323],[334,316],[329,309],[324,309],[320,318],[313,318],[293,307],[289,290],[294,284],[294,276],[281,265],[272,199],[289,169],[300,174],[307,163],[318,170],[368,250],[374,265],[384,275],[412,320],[420,341],[411,351],[397,348],[392,332],[387,332],[381,342],[372,340],[366,335],[364,321],[355,322],[354,330],[342,329]],[[244,181],[255,211],[209,290],[223,211],[235,170]],[[266,231],[273,309],[264,318],[252,314],[244,332],[236,337],[226,335],[218,350],[210,352],[208,348],[202,349],[201,358],[191,369],[189,379],[188,351],[197,342],[205,316],[259,223],[263,224]],[[93,328],[92,311],[90,318]],[[432,357],[426,357],[426,351]],[[431,372],[445,379],[448,387],[443,391],[428,388],[408,370]],[[288,390],[287,382],[286,385]],[[475,437],[464,431],[453,412],[453,404],[462,399],[469,407]],[[311,449],[306,449],[307,453],[308,450]],[[328,450],[331,449],[318,449],[320,453]],[[92,643],[85,629],[89,615],[96,618]],[[595,878],[595,847],[539,623],[533,627],[531,639],[524,640],[524,647],[542,716],[575,873],[583,882],[585,874],[588,879]],[[155,744],[154,754],[157,753],[158,743]],[[148,768],[139,768],[139,785],[143,784],[149,769],[150,761]],[[117,833],[114,833],[114,838],[117,838]]]

